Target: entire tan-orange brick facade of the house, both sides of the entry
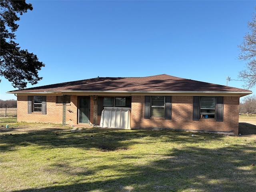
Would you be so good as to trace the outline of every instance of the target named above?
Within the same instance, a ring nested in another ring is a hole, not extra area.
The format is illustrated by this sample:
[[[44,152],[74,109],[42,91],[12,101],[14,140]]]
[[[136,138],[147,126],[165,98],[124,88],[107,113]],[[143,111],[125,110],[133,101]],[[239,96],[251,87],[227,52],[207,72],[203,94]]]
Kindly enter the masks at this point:
[[[78,123],[78,98],[71,96],[66,106],[66,124]],[[193,96],[172,96],[172,119],[144,119],[144,96],[132,96],[131,128],[172,128],[180,130],[233,132],[238,134],[239,97],[224,97],[223,122],[211,119],[192,120]],[[28,114],[28,96],[17,98],[18,122],[48,122],[62,124],[62,104],[56,104],[56,96],[46,96],[46,114]],[[90,97],[90,124],[94,123],[94,97]],[[100,116],[98,116],[98,125]]]

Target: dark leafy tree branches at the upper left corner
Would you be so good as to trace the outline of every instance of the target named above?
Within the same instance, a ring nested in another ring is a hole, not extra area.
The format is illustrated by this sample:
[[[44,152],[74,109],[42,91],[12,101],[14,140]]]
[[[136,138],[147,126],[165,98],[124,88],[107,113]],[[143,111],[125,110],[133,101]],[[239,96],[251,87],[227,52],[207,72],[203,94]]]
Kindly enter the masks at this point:
[[[28,82],[33,85],[41,80],[38,70],[45,66],[35,54],[21,50],[19,44],[14,42],[14,32],[18,29],[15,22],[20,20],[17,14],[22,15],[27,10],[33,10],[33,7],[32,4],[26,4],[25,0],[0,1],[0,76],[19,89],[25,88]]]

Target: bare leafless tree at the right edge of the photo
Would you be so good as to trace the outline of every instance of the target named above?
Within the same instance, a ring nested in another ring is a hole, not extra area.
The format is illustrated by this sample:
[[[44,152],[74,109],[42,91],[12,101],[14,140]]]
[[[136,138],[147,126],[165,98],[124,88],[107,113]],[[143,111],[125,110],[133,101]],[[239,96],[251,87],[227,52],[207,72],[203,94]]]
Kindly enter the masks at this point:
[[[256,7],[255,7],[256,9]],[[252,21],[248,22],[248,32],[244,36],[240,48],[239,59],[246,61],[246,69],[239,72],[238,77],[245,81],[245,88],[252,88],[256,84],[256,14],[252,14]]]

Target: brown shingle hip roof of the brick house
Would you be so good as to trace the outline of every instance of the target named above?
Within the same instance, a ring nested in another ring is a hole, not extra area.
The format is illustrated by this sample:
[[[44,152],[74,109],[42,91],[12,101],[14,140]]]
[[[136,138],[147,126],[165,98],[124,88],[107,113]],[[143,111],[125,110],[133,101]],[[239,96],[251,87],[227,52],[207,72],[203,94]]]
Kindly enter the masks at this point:
[[[46,91],[128,91],[128,92],[251,92],[250,90],[211,84],[166,74],[148,77],[92,78],[87,80],[52,84],[9,93]]]

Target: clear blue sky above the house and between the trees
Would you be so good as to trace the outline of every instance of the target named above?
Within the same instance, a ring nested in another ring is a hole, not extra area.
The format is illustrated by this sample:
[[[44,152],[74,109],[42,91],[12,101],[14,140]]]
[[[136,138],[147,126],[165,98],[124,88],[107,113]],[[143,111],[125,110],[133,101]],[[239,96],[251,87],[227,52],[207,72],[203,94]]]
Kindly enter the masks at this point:
[[[256,1],[26,1],[16,42],[46,66],[27,88],[168,74],[242,88],[239,48]],[[1,77],[2,100],[16,99]],[[252,88],[256,92],[256,88]]]

